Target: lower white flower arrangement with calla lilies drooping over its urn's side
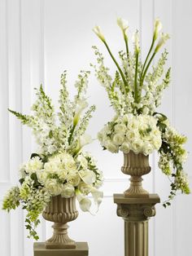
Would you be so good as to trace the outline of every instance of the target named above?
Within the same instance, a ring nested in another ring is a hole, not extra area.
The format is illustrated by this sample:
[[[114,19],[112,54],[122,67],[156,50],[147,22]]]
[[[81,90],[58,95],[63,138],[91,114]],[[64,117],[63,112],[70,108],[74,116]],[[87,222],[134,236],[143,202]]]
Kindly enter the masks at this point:
[[[13,110],[22,124],[33,130],[38,149],[20,166],[20,185],[11,188],[4,197],[3,209],[10,211],[20,204],[27,210],[26,228],[29,237],[38,239],[35,231],[39,215],[49,203],[51,196],[65,198],[76,196],[81,210],[89,211],[92,194],[96,205],[103,198],[98,188],[103,183],[103,174],[94,158],[83,147],[91,142],[85,130],[95,106],[88,107],[86,90],[89,72],[81,71],[76,81],[76,95],[69,98],[67,73],[61,76],[59,113],[42,86],[36,90],[37,100],[32,106],[33,115],[24,115]]]

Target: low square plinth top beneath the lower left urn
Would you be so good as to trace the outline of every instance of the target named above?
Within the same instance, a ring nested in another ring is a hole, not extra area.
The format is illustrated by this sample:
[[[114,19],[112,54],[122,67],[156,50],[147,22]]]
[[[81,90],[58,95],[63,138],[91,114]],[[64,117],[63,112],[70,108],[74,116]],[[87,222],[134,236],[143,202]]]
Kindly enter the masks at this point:
[[[46,249],[46,243],[34,243],[34,256],[88,256],[89,248],[86,242],[76,242],[74,249]]]

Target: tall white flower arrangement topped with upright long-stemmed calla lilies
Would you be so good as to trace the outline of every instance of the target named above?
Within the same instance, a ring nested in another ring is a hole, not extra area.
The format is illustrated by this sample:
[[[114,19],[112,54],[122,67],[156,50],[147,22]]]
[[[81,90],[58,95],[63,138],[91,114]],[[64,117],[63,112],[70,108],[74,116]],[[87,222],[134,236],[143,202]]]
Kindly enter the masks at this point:
[[[104,64],[103,54],[97,46],[93,46],[98,65],[91,64],[98,81],[107,90],[115,117],[108,121],[98,133],[98,139],[110,152],[143,153],[149,155],[154,150],[159,153],[159,168],[171,181],[171,192],[164,207],[178,190],[189,194],[190,188],[184,170],[187,157],[185,135],[175,130],[168,117],[158,113],[162,94],[170,83],[171,68],[164,72],[168,51],[164,50],[155,65],[152,61],[168,40],[167,33],[160,33],[162,24],[155,20],[154,32],[146,60],[142,63],[138,31],[133,35],[133,52],[129,51],[129,25],[126,20],[118,19],[117,24],[123,33],[124,51],[119,51],[119,60],[111,52],[100,27],[94,28],[94,33],[106,46],[111,60],[116,66],[112,77],[109,68]]]

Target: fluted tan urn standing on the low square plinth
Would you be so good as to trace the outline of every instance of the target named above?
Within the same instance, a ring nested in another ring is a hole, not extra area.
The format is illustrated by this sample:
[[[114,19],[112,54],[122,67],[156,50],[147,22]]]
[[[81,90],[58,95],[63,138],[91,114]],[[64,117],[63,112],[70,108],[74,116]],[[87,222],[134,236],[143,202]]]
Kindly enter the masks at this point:
[[[46,241],[46,249],[74,249],[76,242],[68,236],[68,222],[78,216],[76,210],[76,197],[64,198],[52,196],[49,204],[42,214],[43,218],[54,222],[53,236]]]

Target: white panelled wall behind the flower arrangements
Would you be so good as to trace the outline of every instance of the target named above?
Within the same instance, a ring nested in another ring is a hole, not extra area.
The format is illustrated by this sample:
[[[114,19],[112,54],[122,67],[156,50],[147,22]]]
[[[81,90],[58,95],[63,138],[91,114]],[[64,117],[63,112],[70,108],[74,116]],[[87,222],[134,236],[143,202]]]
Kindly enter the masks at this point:
[[[186,170],[192,174],[192,2],[190,0],[0,0],[0,203],[2,196],[18,178],[18,166],[28,160],[35,148],[31,131],[7,113],[10,107],[29,113],[33,103],[33,87],[43,83],[46,93],[54,102],[58,98],[59,76],[68,69],[71,93],[77,73],[90,69],[95,62],[92,45],[103,45],[92,32],[100,24],[112,50],[120,50],[118,16],[129,20],[131,32],[139,29],[142,52],[146,55],[151,42],[153,20],[159,17],[164,32],[171,35],[167,44],[168,64],[172,66],[172,85],[166,91],[161,109],[172,123],[189,137],[190,151]],[[107,55],[106,55],[107,57]],[[113,70],[111,61],[108,66]],[[105,122],[113,115],[103,88],[92,75],[89,79],[89,102],[97,111],[89,126],[96,137]],[[103,152],[97,141],[89,150],[98,159],[105,183],[104,199],[97,216],[82,214],[70,223],[69,233],[76,241],[88,241],[90,256],[120,256],[124,254],[123,220],[116,216],[112,194],[123,192],[128,179],[120,173],[123,156]],[[151,157],[152,172],[145,177],[145,188],[157,192],[164,201],[169,183],[158,170],[155,156]],[[177,196],[172,206],[164,210],[156,207],[157,214],[150,221],[150,256],[192,255],[192,196]],[[11,214],[0,210],[0,255],[32,256],[33,241],[26,239],[24,213],[19,209]],[[40,241],[50,236],[50,223],[42,220]]]

